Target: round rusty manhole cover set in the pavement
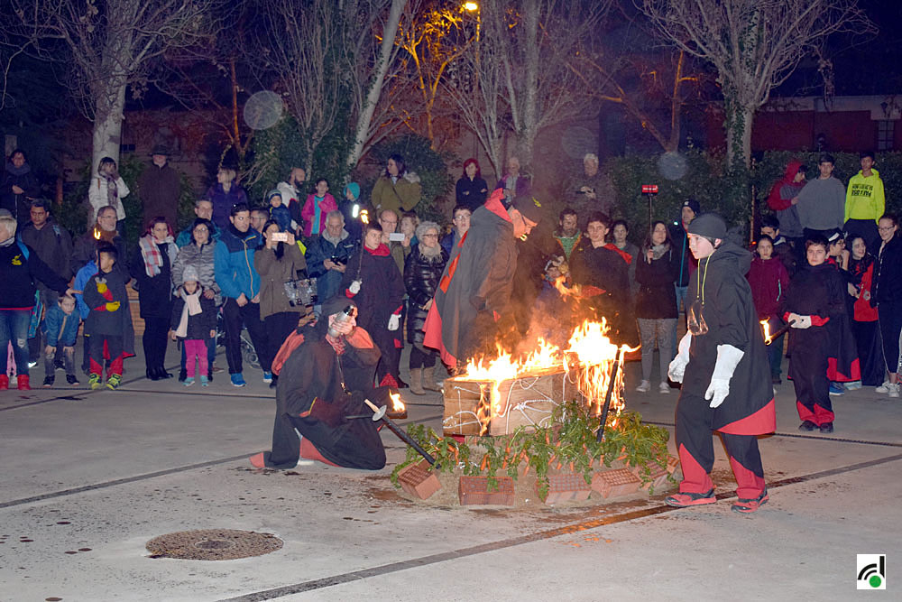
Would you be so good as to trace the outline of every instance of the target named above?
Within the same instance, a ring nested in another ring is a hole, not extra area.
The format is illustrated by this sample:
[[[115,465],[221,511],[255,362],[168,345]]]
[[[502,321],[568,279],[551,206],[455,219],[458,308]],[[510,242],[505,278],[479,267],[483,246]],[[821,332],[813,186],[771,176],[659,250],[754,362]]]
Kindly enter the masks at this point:
[[[235,560],[262,556],[281,549],[282,541],[272,533],[235,529],[179,531],[154,537],[147,542],[151,558],[183,560]]]

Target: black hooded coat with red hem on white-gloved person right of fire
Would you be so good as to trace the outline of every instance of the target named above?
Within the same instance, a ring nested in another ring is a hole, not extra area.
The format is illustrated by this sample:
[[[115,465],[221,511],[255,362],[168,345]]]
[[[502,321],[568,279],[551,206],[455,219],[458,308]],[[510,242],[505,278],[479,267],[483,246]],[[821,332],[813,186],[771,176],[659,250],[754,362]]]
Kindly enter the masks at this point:
[[[749,282],[749,251],[724,241],[698,262],[686,295],[686,308],[700,309],[707,332],[693,335],[683,390],[704,397],[717,362],[717,346],[743,352],[730,379],[730,394],[712,410],[711,428],[734,435],[774,431],[776,412],[770,364]],[[704,283],[704,285],[703,285]]]

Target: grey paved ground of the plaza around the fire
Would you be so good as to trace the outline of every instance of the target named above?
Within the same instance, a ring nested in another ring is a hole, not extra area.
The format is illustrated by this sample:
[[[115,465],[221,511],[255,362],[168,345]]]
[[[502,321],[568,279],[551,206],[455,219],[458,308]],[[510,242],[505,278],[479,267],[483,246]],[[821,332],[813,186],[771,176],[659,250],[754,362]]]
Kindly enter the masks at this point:
[[[902,579],[902,403],[873,389],[834,398],[828,437],[796,431],[791,385],[778,387],[778,434],[761,440],[771,501],[758,514],[730,512],[720,445],[717,505],[519,511],[395,495],[403,448],[391,433],[378,473],[252,471],[274,408],[259,372],[244,389],[219,375],[204,390],[138,378],[140,359],[126,366],[118,392],[0,393],[0,600],[849,600],[867,596],[855,555],[875,552],[888,555],[888,589]],[[668,426],[676,391],[632,393],[638,367],[628,407]],[[406,398],[410,421],[438,426],[437,394]],[[211,528],[274,533],[284,547],[216,562],[144,548]]]

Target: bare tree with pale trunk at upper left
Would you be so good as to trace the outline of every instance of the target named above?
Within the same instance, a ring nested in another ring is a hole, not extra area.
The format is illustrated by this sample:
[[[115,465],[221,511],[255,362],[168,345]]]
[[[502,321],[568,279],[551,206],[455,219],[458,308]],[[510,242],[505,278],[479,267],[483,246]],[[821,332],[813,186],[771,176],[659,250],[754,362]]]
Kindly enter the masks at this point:
[[[93,122],[95,167],[102,157],[119,159],[126,88],[140,89],[152,61],[166,51],[207,37],[213,4],[213,0],[13,1],[23,37],[43,57],[67,61],[69,88]]]

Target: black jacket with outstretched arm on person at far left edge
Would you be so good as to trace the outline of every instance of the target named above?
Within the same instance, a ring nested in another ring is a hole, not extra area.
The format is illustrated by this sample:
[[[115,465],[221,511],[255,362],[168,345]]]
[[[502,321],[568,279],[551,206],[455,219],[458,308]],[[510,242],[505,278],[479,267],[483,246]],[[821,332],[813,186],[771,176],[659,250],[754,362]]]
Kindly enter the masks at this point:
[[[0,282],[3,282],[0,286],[0,310],[31,310],[37,290],[36,281],[43,282],[60,294],[69,288],[69,281],[60,278],[41,261],[34,249],[15,237],[7,238],[4,243],[0,243]]]

